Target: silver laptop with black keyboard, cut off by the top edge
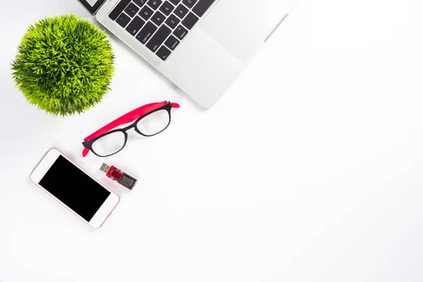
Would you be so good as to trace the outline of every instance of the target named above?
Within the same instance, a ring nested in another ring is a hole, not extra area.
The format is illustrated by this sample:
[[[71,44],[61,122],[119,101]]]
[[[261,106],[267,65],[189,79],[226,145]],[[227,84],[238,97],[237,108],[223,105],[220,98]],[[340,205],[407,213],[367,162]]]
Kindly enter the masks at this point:
[[[78,0],[204,108],[212,107],[299,0]]]

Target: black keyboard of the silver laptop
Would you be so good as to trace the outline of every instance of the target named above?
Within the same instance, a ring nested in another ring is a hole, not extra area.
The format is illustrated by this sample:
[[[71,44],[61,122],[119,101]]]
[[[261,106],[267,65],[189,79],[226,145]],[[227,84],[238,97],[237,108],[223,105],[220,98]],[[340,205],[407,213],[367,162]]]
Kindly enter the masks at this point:
[[[109,18],[166,61],[214,1],[122,0]]]

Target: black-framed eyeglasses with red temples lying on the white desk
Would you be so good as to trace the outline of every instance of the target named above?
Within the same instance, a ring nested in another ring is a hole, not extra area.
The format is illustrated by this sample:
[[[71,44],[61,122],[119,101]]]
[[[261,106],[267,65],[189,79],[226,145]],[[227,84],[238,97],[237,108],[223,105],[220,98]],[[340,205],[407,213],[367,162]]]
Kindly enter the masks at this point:
[[[145,137],[161,133],[171,123],[171,109],[179,107],[179,104],[165,101],[147,104],[130,111],[86,137],[82,142],[85,147],[82,151],[82,157],[86,157],[90,151],[98,157],[109,157],[121,152],[128,141],[128,133],[126,132],[131,128]],[[132,121],[134,122],[125,128],[113,130],[119,125]]]

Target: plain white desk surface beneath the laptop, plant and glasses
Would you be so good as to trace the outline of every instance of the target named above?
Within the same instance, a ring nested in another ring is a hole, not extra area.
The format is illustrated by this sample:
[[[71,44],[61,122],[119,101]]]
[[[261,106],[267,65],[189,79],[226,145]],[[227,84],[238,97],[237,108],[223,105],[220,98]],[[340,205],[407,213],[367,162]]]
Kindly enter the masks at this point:
[[[423,281],[422,1],[302,1],[209,111],[113,39],[111,92],[65,119],[10,63],[33,21],[87,13],[3,2],[0,281]],[[98,231],[28,180],[53,146],[104,180],[82,138],[164,99],[168,130],[106,159],[140,180]]]

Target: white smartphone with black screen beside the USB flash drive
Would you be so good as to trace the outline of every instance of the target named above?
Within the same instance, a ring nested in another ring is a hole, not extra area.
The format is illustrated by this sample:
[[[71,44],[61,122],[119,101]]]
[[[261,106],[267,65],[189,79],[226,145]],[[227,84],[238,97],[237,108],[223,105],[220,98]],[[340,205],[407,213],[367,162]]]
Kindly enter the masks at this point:
[[[56,148],[39,161],[30,180],[92,228],[101,227],[120,200]]]

